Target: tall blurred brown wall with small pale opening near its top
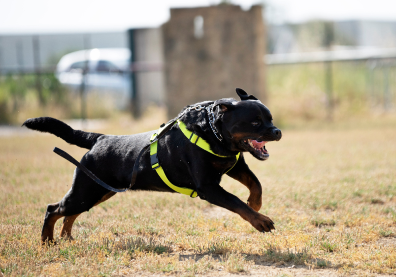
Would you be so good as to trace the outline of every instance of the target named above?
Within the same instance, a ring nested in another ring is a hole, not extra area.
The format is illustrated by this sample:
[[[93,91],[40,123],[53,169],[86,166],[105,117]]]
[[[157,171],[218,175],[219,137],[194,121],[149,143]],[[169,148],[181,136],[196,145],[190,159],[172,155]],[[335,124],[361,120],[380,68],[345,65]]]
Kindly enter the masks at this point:
[[[264,34],[261,6],[171,9],[163,25],[169,116],[198,101],[235,97],[236,87],[264,101]]]

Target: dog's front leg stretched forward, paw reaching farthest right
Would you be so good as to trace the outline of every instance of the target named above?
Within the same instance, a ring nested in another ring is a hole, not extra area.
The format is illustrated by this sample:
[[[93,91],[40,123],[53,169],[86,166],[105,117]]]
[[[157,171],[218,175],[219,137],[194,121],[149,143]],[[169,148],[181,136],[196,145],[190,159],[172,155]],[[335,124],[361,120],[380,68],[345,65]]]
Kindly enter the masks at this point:
[[[198,185],[197,192],[201,199],[240,215],[260,232],[270,232],[271,229],[275,229],[271,218],[256,212],[238,197],[224,190],[219,184]]]

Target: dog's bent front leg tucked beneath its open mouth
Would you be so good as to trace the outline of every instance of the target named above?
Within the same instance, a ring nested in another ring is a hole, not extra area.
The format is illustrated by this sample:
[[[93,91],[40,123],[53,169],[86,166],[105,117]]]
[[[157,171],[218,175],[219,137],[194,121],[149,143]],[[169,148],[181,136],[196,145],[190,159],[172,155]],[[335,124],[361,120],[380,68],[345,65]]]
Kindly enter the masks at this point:
[[[249,189],[250,195],[248,198],[248,205],[258,212],[262,205],[263,189],[259,179],[257,179],[256,175],[249,169],[243,156],[241,156],[235,166],[227,172],[227,175],[239,181]]]

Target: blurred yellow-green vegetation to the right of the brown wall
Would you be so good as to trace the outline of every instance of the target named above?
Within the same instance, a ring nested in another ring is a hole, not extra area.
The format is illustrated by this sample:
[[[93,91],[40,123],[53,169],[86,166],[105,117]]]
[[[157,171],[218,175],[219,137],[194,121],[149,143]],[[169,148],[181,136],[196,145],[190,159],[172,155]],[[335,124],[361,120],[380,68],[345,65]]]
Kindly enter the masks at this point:
[[[333,121],[393,112],[395,68],[389,68],[389,72],[389,95],[385,100],[383,68],[370,71],[366,62],[333,62]],[[279,127],[327,120],[329,96],[323,63],[272,65],[267,73],[266,105]],[[388,109],[384,109],[385,101]]]

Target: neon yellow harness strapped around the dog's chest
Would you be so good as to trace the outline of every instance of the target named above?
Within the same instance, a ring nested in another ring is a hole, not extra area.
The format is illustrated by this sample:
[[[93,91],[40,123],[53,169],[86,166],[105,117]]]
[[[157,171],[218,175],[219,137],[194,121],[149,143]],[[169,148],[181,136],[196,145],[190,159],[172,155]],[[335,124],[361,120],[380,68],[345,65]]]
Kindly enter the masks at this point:
[[[209,144],[204,139],[198,137],[198,135],[195,134],[194,132],[187,130],[186,124],[184,124],[182,121],[177,120],[177,123],[179,125],[180,130],[189,139],[189,141],[191,143],[197,145],[198,147],[202,148],[203,150],[205,150],[205,151],[207,151],[207,152],[209,152],[211,154],[214,154],[216,156],[227,157],[227,156],[221,156],[221,155],[218,155],[216,153],[213,153],[213,151],[210,149]],[[157,173],[160,176],[160,178],[162,179],[162,181],[164,181],[164,183],[166,185],[168,185],[171,189],[173,189],[174,191],[177,191],[179,193],[182,193],[182,194],[190,195],[190,197],[195,198],[195,197],[198,196],[198,193],[194,189],[187,188],[187,187],[179,187],[179,186],[176,186],[176,185],[173,185],[172,183],[170,183],[168,178],[166,178],[164,169],[162,168],[162,166],[160,165],[160,163],[158,161],[158,157],[157,157],[157,155],[158,155],[157,154],[158,140],[156,140],[156,137],[158,135],[160,135],[162,133],[162,131],[164,131],[165,128],[167,126],[169,126],[170,124],[176,124],[176,123],[175,122],[170,122],[170,123],[165,124],[163,127],[161,127],[158,130],[157,133],[154,133],[151,136],[151,138],[150,138],[151,167],[153,169],[155,169],[155,171],[157,171]],[[235,164],[238,162],[239,155],[240,155],[240,153],[236,154],[236,161],[235,161],[234,165],[231,166],[231,168],[227,172],[229,172],[235,166]]]

